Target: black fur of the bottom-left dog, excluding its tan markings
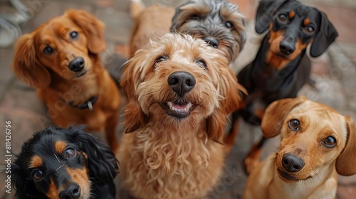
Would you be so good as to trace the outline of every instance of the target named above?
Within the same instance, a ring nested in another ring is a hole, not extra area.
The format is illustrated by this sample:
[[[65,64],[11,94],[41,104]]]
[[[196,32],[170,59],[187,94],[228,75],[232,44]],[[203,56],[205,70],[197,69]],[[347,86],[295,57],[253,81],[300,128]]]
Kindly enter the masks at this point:
[[[65,158],[63,154],[56,154],[56,149],[54,149],[56,141],[65,141],[66,150],[69,147],[77,151],[75,156]],[[35,155],[43,159],[43,166],[28,168],[29,160]],[[23,143],[20,154],[11,165],[11,180],[16,190],[15,197],[47,198],[50,178],[57,188],[60,185],[66,186],[71,179],[66,168],[82,169],[85,167],[89,170],[88,181],[91,181],[92,198],[115,198],[113,179],[117,175],[118,162],[107,144],[83,131],[83,127],[69,127],[68,129],[50,127],[38,131],[31,139]],[[41,181],[33,178],[33,173],[38,169],[43,172]]]

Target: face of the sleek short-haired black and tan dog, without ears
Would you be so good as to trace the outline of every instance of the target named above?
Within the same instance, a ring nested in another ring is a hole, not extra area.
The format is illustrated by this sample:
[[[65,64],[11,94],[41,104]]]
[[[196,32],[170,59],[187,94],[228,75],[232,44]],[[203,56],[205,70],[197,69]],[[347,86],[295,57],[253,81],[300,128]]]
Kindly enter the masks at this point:
[[[321,27],[320,12],[299,2],[287,1],[273,16],[268,43],[270,52],[281,61],[274,62],[281,69],[313,43]]]

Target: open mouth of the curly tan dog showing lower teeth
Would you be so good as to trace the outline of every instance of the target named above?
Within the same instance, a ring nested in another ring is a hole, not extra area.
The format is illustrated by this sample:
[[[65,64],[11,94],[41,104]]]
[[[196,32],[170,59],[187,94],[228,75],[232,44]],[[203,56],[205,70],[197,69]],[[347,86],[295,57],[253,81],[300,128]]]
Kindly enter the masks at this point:
[[[189,114],[197,108],[197,104],[192,104],[188,102],[187,104],[167,102],[159,103],[162,109],[165,109],[167,114],[173,117],[184,118],[188,117]]]

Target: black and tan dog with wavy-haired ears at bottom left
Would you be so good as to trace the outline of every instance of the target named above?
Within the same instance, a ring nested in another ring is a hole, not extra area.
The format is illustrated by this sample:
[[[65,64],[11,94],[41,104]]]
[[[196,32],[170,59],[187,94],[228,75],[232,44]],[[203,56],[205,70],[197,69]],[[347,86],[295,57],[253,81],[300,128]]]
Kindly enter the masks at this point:
[[[11,166],[16,198],[115,198],[118,163],[83,127],[51,127],[26,141]]]

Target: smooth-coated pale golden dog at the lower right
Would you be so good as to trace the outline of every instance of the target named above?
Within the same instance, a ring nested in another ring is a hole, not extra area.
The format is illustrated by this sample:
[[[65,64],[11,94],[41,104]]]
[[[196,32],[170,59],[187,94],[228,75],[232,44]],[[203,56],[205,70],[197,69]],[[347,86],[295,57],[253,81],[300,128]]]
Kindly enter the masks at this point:
[[[337,173],[356,173],[356,128],[350,117],[305,97],[266,109],[264,136],[281,146],[253,170],[244,198],[335,198]]]

